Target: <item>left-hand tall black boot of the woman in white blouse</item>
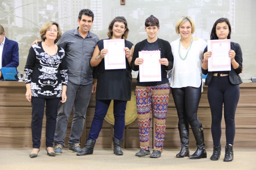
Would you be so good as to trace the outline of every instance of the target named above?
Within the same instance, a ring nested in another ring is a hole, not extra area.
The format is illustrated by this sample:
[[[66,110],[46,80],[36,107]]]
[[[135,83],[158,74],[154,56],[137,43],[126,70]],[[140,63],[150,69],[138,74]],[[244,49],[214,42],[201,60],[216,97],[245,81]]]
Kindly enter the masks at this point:
[[[180,133],[180,153],[176,155],[177,158],[184,158],[189,156],[189,124],[179,124],[178,130]]]

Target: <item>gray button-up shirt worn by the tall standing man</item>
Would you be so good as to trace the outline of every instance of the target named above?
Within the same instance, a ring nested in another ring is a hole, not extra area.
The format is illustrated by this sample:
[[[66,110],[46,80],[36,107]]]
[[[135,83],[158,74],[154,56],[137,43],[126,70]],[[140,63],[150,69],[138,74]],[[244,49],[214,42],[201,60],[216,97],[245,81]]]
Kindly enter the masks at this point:
[[[90,59],[93,56],[99,37],[88,32],[83,38],[78,28],[66,31],[58,45],[64,48],[68,69],[68,80],[76,85],[88,85],[93,82],[93,67],[90,66]]]

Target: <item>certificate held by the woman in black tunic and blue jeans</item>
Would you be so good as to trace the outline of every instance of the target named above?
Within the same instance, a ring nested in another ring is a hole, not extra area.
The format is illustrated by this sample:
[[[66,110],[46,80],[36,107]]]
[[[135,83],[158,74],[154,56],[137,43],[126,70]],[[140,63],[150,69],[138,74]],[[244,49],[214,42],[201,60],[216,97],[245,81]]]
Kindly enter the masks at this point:
[[[104,48],[108,49],[108,53],[104,57],[105,69],[122,69],[126,68],[125,64],[125,40],[103,40]]]

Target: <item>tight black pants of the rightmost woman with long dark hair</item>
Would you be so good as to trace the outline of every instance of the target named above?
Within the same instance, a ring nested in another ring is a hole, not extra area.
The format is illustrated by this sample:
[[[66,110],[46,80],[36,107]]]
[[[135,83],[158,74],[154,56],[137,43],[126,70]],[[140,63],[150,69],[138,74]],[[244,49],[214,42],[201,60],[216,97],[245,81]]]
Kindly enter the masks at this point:
[[[212,76],[208,86],[208,101],[212,114],[213,144],[221,144],[222,105],[224,103],[224,119],[226,124],[226,144],[233,144],[236,127],[235,113],[239,101],[239,85],[233,85],[228,76]]]

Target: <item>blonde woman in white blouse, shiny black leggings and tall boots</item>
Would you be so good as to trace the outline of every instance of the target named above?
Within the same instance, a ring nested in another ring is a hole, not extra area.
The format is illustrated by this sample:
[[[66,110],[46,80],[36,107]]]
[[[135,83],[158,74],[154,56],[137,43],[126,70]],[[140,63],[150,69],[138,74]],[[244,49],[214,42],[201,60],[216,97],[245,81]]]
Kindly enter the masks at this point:
[[[207,42],[194,37],[195,24],[191,17],[181,17],[175,27],[180,38],[171,43],[174,65],[171,90],[179,118],[181,150],[177,158],[206,158],[204,131],[198,120],[197,111],[201,98],[201,61]],[[197,150],[189,155],[189,125],[195,136]]]

